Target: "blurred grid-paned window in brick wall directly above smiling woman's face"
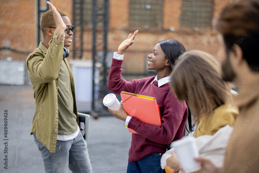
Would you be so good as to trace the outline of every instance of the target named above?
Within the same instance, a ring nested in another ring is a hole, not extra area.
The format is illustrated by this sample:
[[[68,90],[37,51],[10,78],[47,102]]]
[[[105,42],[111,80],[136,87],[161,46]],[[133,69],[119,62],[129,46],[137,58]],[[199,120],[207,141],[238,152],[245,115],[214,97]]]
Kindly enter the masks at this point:
[[[163,1],[161,0],[130,0],[130,25],[162,26]]]

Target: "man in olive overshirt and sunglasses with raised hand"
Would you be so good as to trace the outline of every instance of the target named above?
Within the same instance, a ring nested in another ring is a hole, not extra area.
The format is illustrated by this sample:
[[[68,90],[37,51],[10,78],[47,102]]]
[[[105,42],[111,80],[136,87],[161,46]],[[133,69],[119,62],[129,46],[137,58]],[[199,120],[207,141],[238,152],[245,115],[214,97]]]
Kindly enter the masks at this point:
[[[26,60],[36,102],[31,135],[42,155],[45,172],[92,173],[79,128],[75,87],[63,47],[70,46],[73,29],[67,13],[47,1],[51,10],[41,17],[43,42]]]

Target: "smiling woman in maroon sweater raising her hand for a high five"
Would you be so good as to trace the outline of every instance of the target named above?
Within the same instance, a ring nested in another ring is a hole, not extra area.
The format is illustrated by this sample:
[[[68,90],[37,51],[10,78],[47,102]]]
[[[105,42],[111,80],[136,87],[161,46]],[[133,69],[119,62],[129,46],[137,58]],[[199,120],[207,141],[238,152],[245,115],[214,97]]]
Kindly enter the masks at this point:
[[[188,118],[185,102],[179,103],[170,92],[170,73],[177,58],[185,52],[184,46],[176,40],[163,40],[155,45],[148,55],[148,69],[155,70],[156,76],[126,81],[121,78],[123,54],[134,43],[138,30],[124,40],[118,52],[114,52],[108,79],[108,89],[119,94],[121,91],[147,95],[156,98],[161,115],[161,126],[148,124],[134,116],[128,116],[123,105],[119,110],[108,109],[117,119],[138,134],[132,134],[127,172],[164,172],[160,159],[166,152],[167,144],[181,139]]]

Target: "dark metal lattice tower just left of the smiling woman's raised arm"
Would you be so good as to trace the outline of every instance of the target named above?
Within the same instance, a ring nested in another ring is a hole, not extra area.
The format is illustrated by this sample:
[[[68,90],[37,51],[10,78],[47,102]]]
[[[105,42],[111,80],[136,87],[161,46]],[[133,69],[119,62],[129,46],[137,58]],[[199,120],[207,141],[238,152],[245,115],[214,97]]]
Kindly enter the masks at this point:
[[[101,3],[103,2],[103,3]],[[92,1],[93,15],[92,15],[92,62],[93,62],[93,80],[92,80],[92,111],[97,111],[96,104],[98,104],[98,99],[103,98],[107,94],[107,67],[106,67],[106,56],[107,56],[107,35],[109,30],[109,0],[104,1]],[[97,59],[97,53],[99,53],[99,58]],[[96,93],[95,74],[96,74],[96,63],[100,62],[102,64],[102,69],[100,69],[100,82],[98,93]],[[101,94],[98,98],[99,93]],[[104,108],[101,105],[102,111]]]

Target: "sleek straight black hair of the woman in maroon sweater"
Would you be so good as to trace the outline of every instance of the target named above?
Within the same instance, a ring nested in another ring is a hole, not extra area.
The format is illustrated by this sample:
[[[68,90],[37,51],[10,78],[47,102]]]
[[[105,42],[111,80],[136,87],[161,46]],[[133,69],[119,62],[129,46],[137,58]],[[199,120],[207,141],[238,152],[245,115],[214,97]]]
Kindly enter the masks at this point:
[[[178,57],[186,52],[184,46],[177,40],[162,40],[159,44],[162,51],[166,54],[172,69]]]

